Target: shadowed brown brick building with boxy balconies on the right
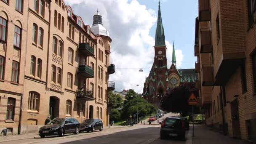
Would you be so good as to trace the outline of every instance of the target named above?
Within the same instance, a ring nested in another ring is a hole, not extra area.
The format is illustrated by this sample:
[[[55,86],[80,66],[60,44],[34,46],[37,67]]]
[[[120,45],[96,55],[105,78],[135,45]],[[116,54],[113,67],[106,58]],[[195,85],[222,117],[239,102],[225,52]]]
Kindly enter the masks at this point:
[[[195,69],[206,125],[256,141],[256,0],[198,0]]]

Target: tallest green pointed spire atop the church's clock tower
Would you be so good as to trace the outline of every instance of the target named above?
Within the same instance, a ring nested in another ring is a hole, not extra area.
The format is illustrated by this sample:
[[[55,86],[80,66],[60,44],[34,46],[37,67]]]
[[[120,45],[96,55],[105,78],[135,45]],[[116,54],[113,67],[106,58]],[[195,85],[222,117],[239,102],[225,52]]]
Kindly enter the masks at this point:
[[[155,31],[155,46],[164,46],[165,45],[165,32],[163,29],[163,21],[160,10],[160,0],[158,4],[158,17],[157,17],[157,28]]]

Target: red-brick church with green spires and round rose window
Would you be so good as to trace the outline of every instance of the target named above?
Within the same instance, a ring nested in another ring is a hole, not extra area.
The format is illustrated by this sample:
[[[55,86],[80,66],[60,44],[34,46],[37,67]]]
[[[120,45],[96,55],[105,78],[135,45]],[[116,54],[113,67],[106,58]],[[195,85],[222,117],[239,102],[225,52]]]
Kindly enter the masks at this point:
[[[150,103],[160,108],[160,99],[172,88],[185,82],[195,82],[197,74],[195,69],[177,69],[175,48],[173,43],[171,67],[167,67],[165,32],[160,10],[158,8],[157,28],[155,32],[155,57],[152,68],[144,82],[143,96]]]

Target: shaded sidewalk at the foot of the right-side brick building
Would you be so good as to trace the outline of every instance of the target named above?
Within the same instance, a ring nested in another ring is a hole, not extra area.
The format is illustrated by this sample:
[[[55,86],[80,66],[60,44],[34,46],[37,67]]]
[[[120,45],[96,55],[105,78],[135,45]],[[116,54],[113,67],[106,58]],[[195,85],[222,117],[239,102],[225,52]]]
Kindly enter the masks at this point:
[[[240,139],[233,139],[224,136],[222,133],[211,131],[206,125],[194,125],[195,137],[192,137],[192,144],[251,144]],[[192,135],[192,125],[190,125]]]

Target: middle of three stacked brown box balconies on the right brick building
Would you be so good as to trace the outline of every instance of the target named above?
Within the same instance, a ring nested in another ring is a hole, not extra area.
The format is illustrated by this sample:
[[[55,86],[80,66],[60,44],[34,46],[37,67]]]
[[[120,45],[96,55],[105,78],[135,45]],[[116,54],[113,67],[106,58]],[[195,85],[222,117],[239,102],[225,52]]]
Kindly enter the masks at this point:
[[[213,47],[211,44],[211,29],[201,28],[200,29],[200,40],[199,40],[200,53],[211,53]]]

